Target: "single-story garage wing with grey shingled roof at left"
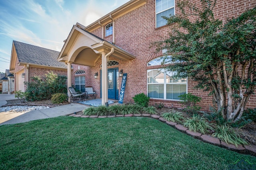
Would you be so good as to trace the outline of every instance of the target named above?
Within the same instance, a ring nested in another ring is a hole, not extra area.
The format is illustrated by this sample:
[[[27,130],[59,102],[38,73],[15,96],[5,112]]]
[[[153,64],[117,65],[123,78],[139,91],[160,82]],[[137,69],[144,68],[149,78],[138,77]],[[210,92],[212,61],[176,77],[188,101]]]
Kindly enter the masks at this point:
[[[10,72],[14,75],[14,91],[24,92],[24,82],[30,82],[33,76],[45,76],[48,72],[67,75],[65,63],[57,61],[60,52],[13,41]]]

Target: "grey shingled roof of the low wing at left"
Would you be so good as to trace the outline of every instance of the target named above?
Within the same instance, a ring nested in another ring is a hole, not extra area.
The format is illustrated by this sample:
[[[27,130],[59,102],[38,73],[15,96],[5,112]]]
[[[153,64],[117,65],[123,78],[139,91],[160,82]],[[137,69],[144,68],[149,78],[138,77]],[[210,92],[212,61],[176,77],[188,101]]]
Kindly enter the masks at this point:
[[[66,64],[57,61],[60,52],[13,41],[19,63],[39,64],[59,68],[67,68]]]

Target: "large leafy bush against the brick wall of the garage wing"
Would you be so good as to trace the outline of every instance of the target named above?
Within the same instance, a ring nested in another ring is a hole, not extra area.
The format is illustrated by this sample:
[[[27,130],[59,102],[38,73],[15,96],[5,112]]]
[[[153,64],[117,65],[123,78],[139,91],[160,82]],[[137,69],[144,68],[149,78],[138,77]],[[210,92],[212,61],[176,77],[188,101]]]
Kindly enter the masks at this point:
[[[52,94],[67,93],[66,76],[56,75],[49,72],[45,77],[32,77],[31,82],[24,82],[26,88],[26,100],[48,100]]]

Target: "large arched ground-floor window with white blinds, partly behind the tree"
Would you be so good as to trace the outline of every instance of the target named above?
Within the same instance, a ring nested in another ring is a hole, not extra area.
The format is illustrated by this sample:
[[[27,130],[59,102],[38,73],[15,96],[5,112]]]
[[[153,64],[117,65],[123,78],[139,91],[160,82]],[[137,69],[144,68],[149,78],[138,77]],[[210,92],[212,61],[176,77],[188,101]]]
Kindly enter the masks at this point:
[[[147,66],[161,65],[162,57],[158,57],[147,63]],[[168,63],[172,63],[171,61]],[[148,69],[147,84],[148,97],[164,100],[179,100],[178,96],[187,93],[187,78],[173,79],[174,72],[164,68]]]

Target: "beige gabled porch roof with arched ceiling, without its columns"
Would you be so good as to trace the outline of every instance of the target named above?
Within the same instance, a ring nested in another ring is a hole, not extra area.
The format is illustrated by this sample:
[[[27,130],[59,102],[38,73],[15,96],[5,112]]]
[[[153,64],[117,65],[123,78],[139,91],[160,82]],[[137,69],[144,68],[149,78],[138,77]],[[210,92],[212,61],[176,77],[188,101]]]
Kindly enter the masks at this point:
[[[58,61],[94,67],[101,54],[109,53],[112,48],[114,53],[111,56],[116,59],[122,61],[135,59],[133,55],[116,45],[74,25],[60,52]]]

